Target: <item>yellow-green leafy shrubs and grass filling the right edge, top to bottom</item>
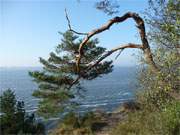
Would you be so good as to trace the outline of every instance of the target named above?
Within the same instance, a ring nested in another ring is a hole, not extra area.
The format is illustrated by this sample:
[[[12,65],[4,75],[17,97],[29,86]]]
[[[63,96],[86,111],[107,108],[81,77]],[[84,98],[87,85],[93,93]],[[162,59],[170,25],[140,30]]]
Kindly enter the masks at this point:
[[[112,135],[180,134],[179,7],[179,0],[149,0],[148,37],[160,72],[154,73],[143,63],[137,93],[141,109],[129,112]]]

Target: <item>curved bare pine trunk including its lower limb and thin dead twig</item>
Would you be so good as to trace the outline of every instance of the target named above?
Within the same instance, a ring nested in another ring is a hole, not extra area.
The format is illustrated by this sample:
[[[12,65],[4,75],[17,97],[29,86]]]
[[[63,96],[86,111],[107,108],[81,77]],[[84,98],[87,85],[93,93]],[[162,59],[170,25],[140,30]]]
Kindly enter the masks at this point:
[[[99,33],[102,33],[104,31],[110,29],[110,27],[113,24],[124,22],[124,21],[126,21],[127,19],[130,19],[130,18],[132,18],[135,21],[136,25],[137,25],[142,44],[139,45],[139,44],[135,44],[135,43],[129,43],[129,44],[126,44],[126,45],[120,45],[120,46],[118,46],[116,48],[113,48],[110,51],[107,51],[105,54],[103,54],[99,59],[90,62],[88,64],[87,71],[90,70],[91,68],[95,67],[98,63],[100,63],[102,60],[104,60],[105,58],[110,56],[112,53],[114,53],[114,52],[116,52],[118,50],[122,51],[122,50],[124,50],[126,48],[137,48],[137,49],[140,49],[141,51],[143,51],[144,59],[145,59],[146,63],[152,68],[152,70],[154,72],[157,73],[157,72],[160,71],[158,69],[157,65],[155,64],[154,60],[153,60],[150,45],[149,45],[149,42],[148,42],[147,37],[146,37],[146,30],[145,30],[144,21],[137,13],[127,12],[123,16],[114,17],[114,18],[110,19],[106,24],[102,25],[101,27],[99,27],[97,29],[93,29],[92,31],[90,31],[88,33],[82,33],[82,32],[77,32],[77,31],[73,30],[71,28],[70,20],[68,18],[68,14],[67,14],[66,10],[65,10],[65,13],[66,13],[66,19],[68,21],[69,30],[76,33],[76,34],[86,35],[86,37],[84,38],[84,40],[81,42],[81,44],[79,46],[79,50],[78,50],[79,54],[76,56],[77,57],[76,66],[77,66],[77,71],[79,72],[79,77],[77,77],[77,79],[73,82],[73,84],[76,83],[81,78],[81,75],[80,75],[81,58],[84,55],[86,55],[86,54],[83,53],[83,48],[86,45],[86,43],[90,40],[90,38],[92,38],[93,36],[95,36],[95,35],[97,35]]]

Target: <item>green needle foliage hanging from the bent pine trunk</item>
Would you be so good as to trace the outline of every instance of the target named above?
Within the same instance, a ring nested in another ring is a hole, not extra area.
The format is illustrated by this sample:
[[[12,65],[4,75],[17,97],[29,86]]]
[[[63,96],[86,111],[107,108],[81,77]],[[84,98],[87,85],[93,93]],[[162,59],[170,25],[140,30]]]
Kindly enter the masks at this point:
[[[70,31],[60,34],[63,39],[56,47],[55,52],[50,53],[48,60],[40,58],[43,70],[30,72],[30,76],[38,84],[38,89],[34,91],[33,95],[42,99],[38,112],[45,117],[54,116],[66,108],[71,108],[71,105],[74,104],[71,99],[81,93],[80,80],[74,83],[79,74],[81,79],[92,80],[110,73],[113,67],[112,61],[104,61],[87,70],[87,64],[98,59],[106,51],[105,48],[97,46],[98,39],[93,39],[84,48],[86,57],[83,58],[81,72],[78,73],[76,54],[82,39]]]

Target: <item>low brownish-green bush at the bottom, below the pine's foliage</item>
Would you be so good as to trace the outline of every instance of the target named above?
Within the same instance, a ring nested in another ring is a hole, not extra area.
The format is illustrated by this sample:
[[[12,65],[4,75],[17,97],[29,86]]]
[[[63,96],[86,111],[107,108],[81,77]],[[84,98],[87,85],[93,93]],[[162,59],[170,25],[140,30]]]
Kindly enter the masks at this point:
[[[78,116],[69,112],[63,118],[60,126],[52,132],[53,135],[93,135],[93,125],[100,119],[93,113],[88,112]]]

